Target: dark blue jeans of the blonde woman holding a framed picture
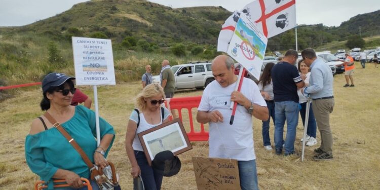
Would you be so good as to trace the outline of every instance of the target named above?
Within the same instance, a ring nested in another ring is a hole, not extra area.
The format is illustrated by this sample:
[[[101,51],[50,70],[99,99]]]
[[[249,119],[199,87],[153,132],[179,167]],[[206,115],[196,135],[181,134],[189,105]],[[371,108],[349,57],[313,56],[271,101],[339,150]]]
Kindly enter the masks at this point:
[[[134,150],[137,164],[141,170],[141,179],[144,183],[145,190],[160,190],[163,176],[156,173],[149,166],[143,151]]]

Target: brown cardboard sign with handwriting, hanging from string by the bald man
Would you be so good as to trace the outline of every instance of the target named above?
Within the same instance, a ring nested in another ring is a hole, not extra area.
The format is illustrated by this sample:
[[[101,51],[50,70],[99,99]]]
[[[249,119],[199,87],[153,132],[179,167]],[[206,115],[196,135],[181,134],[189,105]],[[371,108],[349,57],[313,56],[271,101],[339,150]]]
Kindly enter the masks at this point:
[[[241,189],[238,161],[193,157],[195,179],[198,189]]]

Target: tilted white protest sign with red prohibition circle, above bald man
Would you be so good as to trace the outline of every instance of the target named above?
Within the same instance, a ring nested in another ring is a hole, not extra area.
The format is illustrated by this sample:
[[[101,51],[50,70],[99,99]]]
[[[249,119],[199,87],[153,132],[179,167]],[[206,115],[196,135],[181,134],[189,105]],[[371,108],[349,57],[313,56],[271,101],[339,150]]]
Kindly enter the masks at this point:
[[[253,77],[259,79],[267,43],[267,37],[256,24],[245,14],[241,14],[227,53],[243,65]]]

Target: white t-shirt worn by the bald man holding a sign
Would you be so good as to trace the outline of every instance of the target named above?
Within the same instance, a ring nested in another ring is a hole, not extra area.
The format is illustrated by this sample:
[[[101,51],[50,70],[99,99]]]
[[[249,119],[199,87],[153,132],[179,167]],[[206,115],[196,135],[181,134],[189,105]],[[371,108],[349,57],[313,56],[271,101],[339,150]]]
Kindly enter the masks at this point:
[[[234,124],[230,125],[231,93],[235,90],[236,84],[235,82],[223,88],[217,81],[213,81],[203,91],[198,110],[218,110],[223,115],[223,123],[209,123],[209,157],[239,161],[254,160],[256,157],[253,149],[252,115],[244,106],[238,104]],[[241,92],[251,102],[267,106],[252,80],[244,78]]]

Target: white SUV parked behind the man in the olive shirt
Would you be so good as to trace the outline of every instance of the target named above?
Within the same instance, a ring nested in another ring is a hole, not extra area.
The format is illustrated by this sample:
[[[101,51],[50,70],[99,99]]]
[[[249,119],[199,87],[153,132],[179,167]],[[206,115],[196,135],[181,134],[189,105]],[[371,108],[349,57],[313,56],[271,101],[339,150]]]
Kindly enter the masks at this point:
[[[195,62],[171,67],[174,73],[176,89],[202,89],[214,80],[211,62]],[[160,75],[153,76],[154,82],[160,83]]]

